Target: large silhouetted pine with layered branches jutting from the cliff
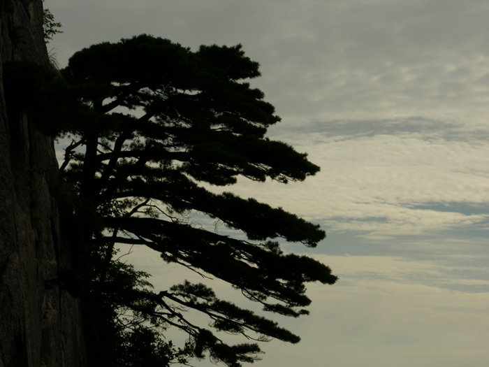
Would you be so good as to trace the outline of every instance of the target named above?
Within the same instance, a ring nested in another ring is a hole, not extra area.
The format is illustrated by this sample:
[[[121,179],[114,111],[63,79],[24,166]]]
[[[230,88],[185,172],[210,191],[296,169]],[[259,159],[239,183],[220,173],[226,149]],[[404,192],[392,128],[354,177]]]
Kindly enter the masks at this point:
[[[258,63],[240,45],[192,52],[142,35],[81,50],[62,74],[89,117],[68,129],[73,141],[61,171],[101,220],[89,233],[92,292],[110,310],[139,317],[140,326],[150,321],[182,329],[189,335],[186,352],[207,352],[228,366],[254,361],[261,351],[256,343],[227,345],[216,331],[298,343],[276,322],[217,298],[206,285],[185,281],[152,292],[144,287],[145,274],[114,259],[117,243],[144,245],[168,263],[228,282],[265,311],[291,317],[308,313],[305,282],[335,282],[330,268],[285,254],[277,241],[315,247],[326,236],[319,226],[205,188],[233,185],[239,176],[302,181],[319,171],[307,154],[265,137],[280,119],[263,92],[244,82],[260,75]],[[195,226],[191,215],[210,217],[247,239]],[[210,326],[192,324],[183,308],[207,315]]]

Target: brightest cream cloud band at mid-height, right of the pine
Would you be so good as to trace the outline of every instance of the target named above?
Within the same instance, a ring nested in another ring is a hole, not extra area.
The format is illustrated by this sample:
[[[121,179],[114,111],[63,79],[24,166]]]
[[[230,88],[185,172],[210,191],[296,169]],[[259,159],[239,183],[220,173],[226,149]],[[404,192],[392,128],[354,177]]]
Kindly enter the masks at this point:
[[[289,185],[240,181],[236,191],[283,206],[330,231],[392,238],[455,228],[489,229],[486,141],[455,140],[447,128],[422,134],[393,124],[387,126],[390,134],[383,134],[382,128],[367,122],[363,129],[356,124],[354,135],[347,126],[346,135],[335,135],[341,128],[331,133],[325,125],[324,131],[274,136],[307,150],[321,166],[315,177]]]

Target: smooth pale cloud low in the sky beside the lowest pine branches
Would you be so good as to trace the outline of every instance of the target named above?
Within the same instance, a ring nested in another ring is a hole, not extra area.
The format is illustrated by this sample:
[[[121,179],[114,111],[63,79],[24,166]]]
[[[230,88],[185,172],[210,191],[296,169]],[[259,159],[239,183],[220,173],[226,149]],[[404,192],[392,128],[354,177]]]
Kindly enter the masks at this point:
[[[152,253],[139,248],[133,255],[154,273],[156,289],[189,278],[184,269],[163,266]],[[309,317],[275,317],[302,336],[302,342],[263,344],[267,366],[300,365],[307,355],[311,365],[328,361],[334,366],[476,367],[489,357],[488,292],[447,287],[453,282],[487,289],[487,266],[454,268],[440,261],[393,256],[313,256],[332,266],[340,282],[334,287],[308,286],[313,299]],[[476,276],[460,277],[461,272],[474,270]],[[219,282],[217,292],[232,301],[240,298]],[[203,366],[212,365],[204,361]]]

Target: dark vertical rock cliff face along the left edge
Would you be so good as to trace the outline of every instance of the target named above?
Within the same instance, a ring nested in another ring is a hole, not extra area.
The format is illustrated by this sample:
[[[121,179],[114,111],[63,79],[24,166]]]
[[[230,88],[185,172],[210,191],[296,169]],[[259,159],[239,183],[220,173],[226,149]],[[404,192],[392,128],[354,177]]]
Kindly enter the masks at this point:
[[[1,61],[43,64],[42,0],[0,1]],[[52,140],[7,114],[0,62],[0,367],[85,366],[80,302],[45,280],[72,267],[61,240]]]

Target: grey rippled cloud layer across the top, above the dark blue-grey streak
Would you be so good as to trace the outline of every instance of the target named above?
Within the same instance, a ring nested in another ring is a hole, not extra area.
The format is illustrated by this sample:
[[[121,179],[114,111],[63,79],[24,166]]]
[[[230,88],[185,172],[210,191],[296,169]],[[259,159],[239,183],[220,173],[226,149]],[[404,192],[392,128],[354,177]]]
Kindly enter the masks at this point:
[[[261,63],[263,77],[254,85],[285,122],[423,114],[486,126],[489,36],[481,31],[489,15],[486,3],[88,3],[48,3],[64,24],[65,33],[52,44],[61,64],[91,43],[140,33],[192,48],[242,43]]]

